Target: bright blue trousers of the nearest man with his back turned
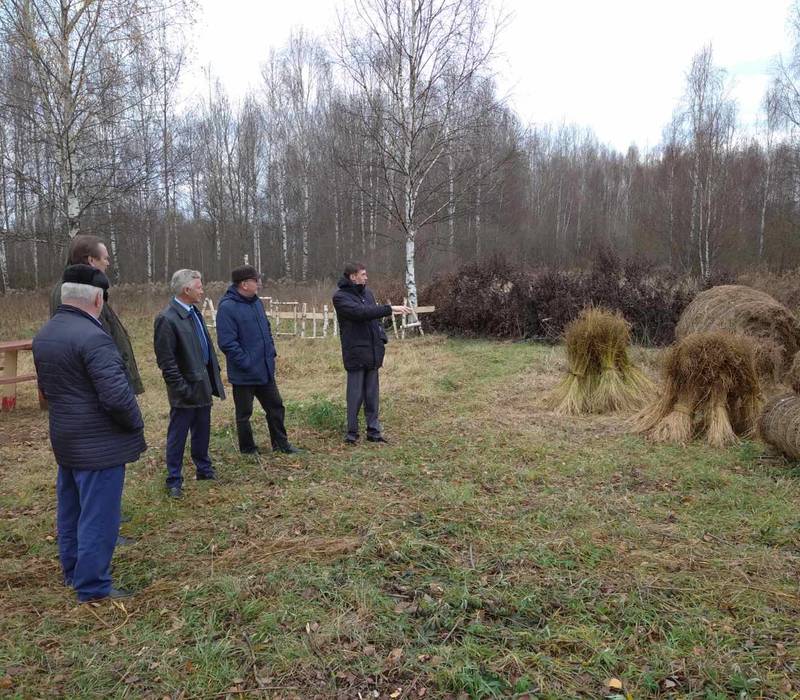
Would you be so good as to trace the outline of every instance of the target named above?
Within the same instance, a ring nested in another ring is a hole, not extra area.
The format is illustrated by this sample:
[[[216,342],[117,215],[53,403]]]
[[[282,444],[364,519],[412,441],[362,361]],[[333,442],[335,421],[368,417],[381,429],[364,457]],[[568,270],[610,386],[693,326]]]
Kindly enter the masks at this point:
[[[103,598],[111,589],[124,483],[124,464],[98,470],[58,467],[58,555],[64,582],[82,602]]]

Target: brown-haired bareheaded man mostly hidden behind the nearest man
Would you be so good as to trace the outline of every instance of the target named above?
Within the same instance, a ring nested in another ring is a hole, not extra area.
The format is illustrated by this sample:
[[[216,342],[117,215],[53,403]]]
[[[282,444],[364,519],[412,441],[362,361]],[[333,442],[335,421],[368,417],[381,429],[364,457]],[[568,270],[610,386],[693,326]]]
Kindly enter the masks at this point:
[[[79,234],[72,239],[69,244],[69,253],[67,257],[68,265],[89,265],[94,267],[103,274],[108,271],[111,265],[111,259],[108,256],[108,249],[97,236],[88,236]],[[133,354],[133,345],[131,344],[128,331],[119,320],[119,316],[114,313],[114,309],[108,303],[108,286],[104,290],[103,295],[103,310],[100,312],[100,323],[114,341],[114,344],[122,355],[122,362],[125,364],[125,371],[128,373],[128,380],[131,383],[131,388],[134,394],[144,393],[144,384],[142,384],[142,377],[139,374],[139,367],[136,364],[136,357]],[[50,315],[52,316],[59,304],[61,304],[61,282],[53,287],[53,292],[50,295]]]

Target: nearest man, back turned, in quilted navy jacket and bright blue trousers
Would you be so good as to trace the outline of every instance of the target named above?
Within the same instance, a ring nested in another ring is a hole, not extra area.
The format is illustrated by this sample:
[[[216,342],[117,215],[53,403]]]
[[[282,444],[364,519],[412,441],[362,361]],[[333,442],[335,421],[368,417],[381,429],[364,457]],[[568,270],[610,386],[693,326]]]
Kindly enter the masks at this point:
[[[78,600],[122,598],[111,583],[125,464],[146,449],[128,375],[100,313],[108,279],[89,265],[64,272],[62,303],[33,341],[58,463],[58,550]]]

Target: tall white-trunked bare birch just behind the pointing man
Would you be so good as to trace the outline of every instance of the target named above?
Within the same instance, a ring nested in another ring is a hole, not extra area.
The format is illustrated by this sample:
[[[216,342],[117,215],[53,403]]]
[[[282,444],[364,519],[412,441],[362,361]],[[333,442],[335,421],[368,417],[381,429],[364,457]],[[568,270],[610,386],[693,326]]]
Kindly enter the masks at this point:
[[[355,0],[353,13],[341,19],[338,60],[363,106],[354,126],[391,183],[388,202],[375,203],[404,234],[411,306],[417,235],[448,212],[447,196],[426,199],[434,189],[448,191],[447,168],[436,183],[434,168],[474,125],[453,116],[491,55],[496,25],[486,8],[480,0]]]

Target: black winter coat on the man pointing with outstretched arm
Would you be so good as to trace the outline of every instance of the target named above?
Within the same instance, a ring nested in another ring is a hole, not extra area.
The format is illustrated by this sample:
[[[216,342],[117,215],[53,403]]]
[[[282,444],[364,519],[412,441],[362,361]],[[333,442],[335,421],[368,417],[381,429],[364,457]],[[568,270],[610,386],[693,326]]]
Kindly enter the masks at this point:
[[[333,295],[339,320],[339,339],[346,370],[378,369],[383,365],[384,345],[389,341],[378,321],[391,316],[392,307],[376,304],[372,292],[363,284],[353,284],[347,277],[339,280]]]

